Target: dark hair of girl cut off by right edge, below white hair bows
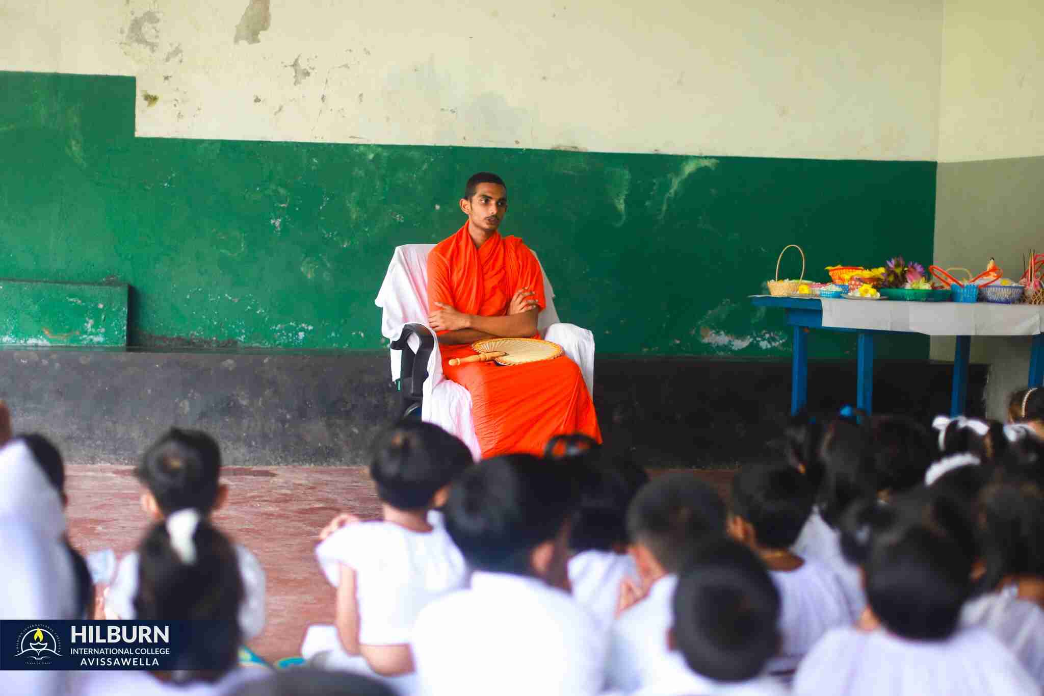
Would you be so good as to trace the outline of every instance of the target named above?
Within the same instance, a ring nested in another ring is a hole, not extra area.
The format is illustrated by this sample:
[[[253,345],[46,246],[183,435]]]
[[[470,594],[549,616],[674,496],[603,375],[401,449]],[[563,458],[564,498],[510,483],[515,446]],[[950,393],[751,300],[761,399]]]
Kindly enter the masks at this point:
[[[990,592],[1010,575],[1044,577],[1044,494],[1028,481],[994,483],[975,505]]]

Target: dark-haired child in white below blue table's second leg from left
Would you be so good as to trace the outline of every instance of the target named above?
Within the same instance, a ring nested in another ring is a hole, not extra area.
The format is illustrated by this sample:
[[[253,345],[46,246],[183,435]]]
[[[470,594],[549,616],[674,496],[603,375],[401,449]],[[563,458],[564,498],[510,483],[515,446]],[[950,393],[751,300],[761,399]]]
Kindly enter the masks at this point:
[[[849,609],[858,616],[867,605],[859,569],[841,554],[838,522],[855,501],[873,500],[881,486],[869,428],[837,419],[826,426],[816,447],[822,466],[812,512],[790,550],[827,566],[841,583]]]

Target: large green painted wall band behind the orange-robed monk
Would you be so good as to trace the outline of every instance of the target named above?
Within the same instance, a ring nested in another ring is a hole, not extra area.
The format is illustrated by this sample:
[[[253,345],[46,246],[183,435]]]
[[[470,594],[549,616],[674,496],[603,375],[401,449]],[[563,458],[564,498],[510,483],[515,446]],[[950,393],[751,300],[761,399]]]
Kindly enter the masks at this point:
[[[135,345],[381,347],[393,248],[454,232],[481,169],[508,182],[505,232],[602,353],[785,356],[782,317],[746,301],[785,244],[821,280],[931,253],[932,162],[136,139],[135,98],[128,77],[0,72],[0,273],[130,284]],[[927,351],[903,337],[879,355]]]

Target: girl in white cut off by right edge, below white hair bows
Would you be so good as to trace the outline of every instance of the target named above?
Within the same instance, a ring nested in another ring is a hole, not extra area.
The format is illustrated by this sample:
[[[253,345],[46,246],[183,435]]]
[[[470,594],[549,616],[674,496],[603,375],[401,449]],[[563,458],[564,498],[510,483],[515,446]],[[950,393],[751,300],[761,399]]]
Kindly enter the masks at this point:
[[[1023,482],[987,486],[976,505],[986,594],[962,622],[986,628],[1044,686],[1044,495]]]

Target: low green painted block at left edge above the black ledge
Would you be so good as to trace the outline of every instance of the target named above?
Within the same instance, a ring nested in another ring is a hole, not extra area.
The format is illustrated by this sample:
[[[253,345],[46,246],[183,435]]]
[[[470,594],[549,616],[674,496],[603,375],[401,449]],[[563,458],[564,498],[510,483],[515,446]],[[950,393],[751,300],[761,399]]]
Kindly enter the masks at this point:
[[[0,345],[126,342],[126,285],[0,279]]]

